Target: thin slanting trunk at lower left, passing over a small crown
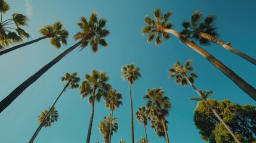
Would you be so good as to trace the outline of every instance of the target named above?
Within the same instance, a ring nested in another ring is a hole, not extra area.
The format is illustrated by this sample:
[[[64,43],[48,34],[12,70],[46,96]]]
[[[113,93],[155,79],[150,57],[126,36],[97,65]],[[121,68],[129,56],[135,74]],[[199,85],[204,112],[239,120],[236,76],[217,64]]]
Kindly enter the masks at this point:
[[[34,135],[32,136],[32,138],[30,139],[29,143],[32,143],[34,141],[34,139],[36,138],[36,136],[38,135],[39,130],[41,130],[43,123],[45,122],[45,119],[47,118],[48,114],[50,113],[51,110],[53,110],[54,105],[56,104],[56,102],[58,101],[58,98],[60,98],[60,96],[63,94],[64,91],[66,91],[67,87],[69,87],[69,83],[67,82],[66,86],[64,86],[63,90],[60,92],[60,95],[58,95],[57,99],[55,100],[55,102],[53,103],[53,105],[51,106],[51,108],[49,109],[49,111],[47,112],[47,114],[45,115],[44,119],[42,119],[42,122],[40,123],[40,125],[38,126],[38,129],[36,129]]]

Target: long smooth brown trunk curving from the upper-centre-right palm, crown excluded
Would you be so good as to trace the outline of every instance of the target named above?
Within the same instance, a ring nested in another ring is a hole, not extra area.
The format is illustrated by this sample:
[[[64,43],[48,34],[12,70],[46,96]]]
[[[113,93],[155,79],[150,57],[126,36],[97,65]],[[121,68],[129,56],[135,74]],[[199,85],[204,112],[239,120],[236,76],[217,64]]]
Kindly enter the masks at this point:
[[[239,86],[240,89],[242,89],[246,94],[248,94],[254,101],[256,101],[256,89],[249,85],[245,80],[243,80],[241,77],[238,76],[234,71],[230,70],[228,67],[226,67],[223,63],[218,61],[215,57],[213,57],[211,54],[200,48],[199,46],[195,45],[194,43],[188,41],[185,39],[180,33],[176,32],[172,29],[165,29],[164,32],[171,33],[172,35],[175,35],[177,38],[180,39],[180,41],[184,42],[187,46],[194,49],[196,52],[198,52],[200,55],[206,58],[213,66],[217,67],[218,70],[223,72],[229,79],[231,79],[233,82],[236,83],[236,85]]]

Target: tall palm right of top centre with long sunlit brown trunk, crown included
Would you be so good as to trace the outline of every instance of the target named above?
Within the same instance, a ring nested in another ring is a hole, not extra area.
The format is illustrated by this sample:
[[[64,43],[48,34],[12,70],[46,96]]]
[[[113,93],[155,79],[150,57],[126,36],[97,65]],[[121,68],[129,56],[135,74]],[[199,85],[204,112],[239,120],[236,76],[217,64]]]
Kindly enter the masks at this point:
[[[144,27],[141,30],[141,32],[143,34],[149,33],[147,37],[147,42],[152,42],[156,34],[157,36],[155,39],[155,44],[159,46],[162,43],[161,38],[169,39],[169,33],[171,33],[172,35],[180,39],[181,42],[185,43],[187,46],[189,46],[190,48],[198,52],[200,55],[202,55],[204,58],[206,58],[206,60],[208,60],[218,70],[223,72],[227,77],[229,77],[229,79],[235,82],[240,89],[242,89],[244,92],[246,92],[246,94],[248,94],[253,100],[256,101],[256,89],[254,87],[245,82],[245,80],[239,77],[238,74],[230,70],[223,63],[218,61],[215,57],[213,57],[211,54],[203,50],[201,47],[195,45],[195,43],[193,42],[188,41],[186,38],[180,35],[180,33],[171,29],[172,24],[168,22],[168,18],[171,16],[171,14],[171,11],[169,11],[168,13],[164,14],[163,17],[161,14],[161,10],[158,8],[154,11],[155,20],[149,18],[148,16],[144,19],[144,22],[147,24],[147,26]]]

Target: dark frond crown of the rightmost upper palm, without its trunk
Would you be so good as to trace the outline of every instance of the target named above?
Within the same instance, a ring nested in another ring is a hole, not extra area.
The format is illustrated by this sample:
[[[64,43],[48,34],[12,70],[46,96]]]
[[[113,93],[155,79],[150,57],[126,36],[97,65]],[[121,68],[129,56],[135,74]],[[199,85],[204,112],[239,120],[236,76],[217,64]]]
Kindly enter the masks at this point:
[[[208,46],[211,42],[207,39],[201,38],[199,36],[200,32],[207,33],[211,36],[218,37],[216,32],[217,27],[214,26],[214,20],[217,18],[214,14],[209,14],[203,18],[203,14],[200,10],[196,10],[189,21],[183,20],[181,25],[184,29],[180,32],[184,38],[191,39],[192,42],[199,41],[201,45]]]

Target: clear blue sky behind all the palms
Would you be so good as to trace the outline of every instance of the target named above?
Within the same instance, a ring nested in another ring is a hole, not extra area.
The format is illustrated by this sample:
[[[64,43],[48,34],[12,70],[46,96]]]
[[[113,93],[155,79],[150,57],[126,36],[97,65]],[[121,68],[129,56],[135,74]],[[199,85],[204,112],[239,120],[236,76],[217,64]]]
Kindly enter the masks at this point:
[[[198,130],[193,124],[193,110],[196,101],[189,101],[196,97],[196,92],[190,86],[180,86],[169,80],[167,69],[180,59],[181,63],[192,59],[195,72],[199,78],[195,86],[199,89],[215,91],[211,98],[216,100],[229,99],[237,104],[255,104],[248,95],[238,88],[221,71],[215,69],[211,63],[201,55],[192,51],[174,36],[164,41],[159,47],[154,43],[146,42],[147,36],[141,35],[144,26],[144,17],[153,17],[153,10],[161,8],[163,13],[172,11],[170,21],[173,29],[182,30],[181,21],[189,20],[195,10],[201,10],[205,15],[216,14],[216,26],[220,38],[225,42],[256,58],[255,52],[255,6],[256,1],[7,1],[11,10],[3,15],[9,18],[13,13],[21,13],[29,17],[29,27],[26,31],[32,38],[41,35],[38,29],[45,24],[53,24],[60,20],[63,28],[69,30],[70,36],[67,46],[57,50],[50,46],[49,40],[40,41],[25,48],[10,52],[0,57],[0,100],[5,98],[14,88],[31,76],[42,66],[51,61],[58,54],[76,43],[73,35],[79,31],[76,23],[81,15],[88,18],[92,11],[97,11],[99,18],[106,18],[106,29],[110,35],[106,38],[108,48],[101,48],[97,54],[91,52],[90,47],[81,52],[79,49],[71,52],[59,63],[47,71],[40,79],[24,91],[8,108],[0,114],[0,142],[28,142],[38,127],[37,118],[42,110],[53,104],[64,84],[60,77],[64,73],[78,72],[84,80],[85,73],[92,69],[106,71],[110,77],[109,83],[123,95],[123,106],[114,111],[113,116],[118,117],[118,132],[114,133],[112,142],[121,138],[131,142],[130,115],[129,115],[129,85],[127,80],[121,78],[121,67],[131,62],[140,67],[142,78],[132,86],[134,111],[144,105],[143,95],[147,89],[162,87],[165,95],[171,99],[172,108],[167,117],[169,122],[168,134],[170,142],[203,142]],[[256,67],[242,58],[227,52],[221,46],[212,44],[203,47],[221,62],[230,67],[246,82],[256,87]],[[77,90],[67,90],[55,105],[60,118],[50,128],[43,128],[35,142],[85,142],[91,114],[91,105],[88,98],[81,100]],[[95,104],[95,116],[92,126],[91,142],[103,142],[103,136],[98,131],[98,124],[103,116],[109,115],[104,107],[104,100]],[[159,139],[150,123],[147,126],[150,142],[164,142]],[[139,125],[134,117],[134,136],[137,142],[144,136],[143,125]]]

